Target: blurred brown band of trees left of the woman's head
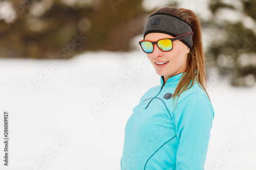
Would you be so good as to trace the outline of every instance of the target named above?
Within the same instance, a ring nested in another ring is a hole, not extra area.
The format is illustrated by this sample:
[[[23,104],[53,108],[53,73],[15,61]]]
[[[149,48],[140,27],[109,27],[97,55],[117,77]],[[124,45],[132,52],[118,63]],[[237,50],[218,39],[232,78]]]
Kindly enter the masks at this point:
[[[70,58],[129,50],[143,32],[141,1],[0,1],[0,57]]]

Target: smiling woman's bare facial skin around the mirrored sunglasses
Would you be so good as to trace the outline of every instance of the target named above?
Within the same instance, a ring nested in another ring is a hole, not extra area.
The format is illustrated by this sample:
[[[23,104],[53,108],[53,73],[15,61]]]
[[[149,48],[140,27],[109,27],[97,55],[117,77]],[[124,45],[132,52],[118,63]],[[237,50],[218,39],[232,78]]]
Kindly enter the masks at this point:
[[[174,38],[171,35],[163,33],[150,33],[145,36],[145,40],[157,41],[163,38]],[[154,44],[153,53],[146,54],[147,58],[151,61],[152,65],[157,71],[159,76],[164,77],[164,82],[169,77],[175,76],[184,72],[186,69],[187,54],[189,48],[180,40],[173,42],[173,49],[168,52],[162,52],[159,50],[156,44]],[[166,64],[158,65],[156,62],[166,62]]]

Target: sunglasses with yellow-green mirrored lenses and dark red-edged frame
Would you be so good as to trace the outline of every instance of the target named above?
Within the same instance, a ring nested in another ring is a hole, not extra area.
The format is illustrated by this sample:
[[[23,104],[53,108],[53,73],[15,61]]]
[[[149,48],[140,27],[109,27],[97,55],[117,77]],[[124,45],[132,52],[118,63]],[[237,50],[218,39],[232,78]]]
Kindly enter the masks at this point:
[[[150,41],[150,40],[143,39],[139,41],[139,44],[141,46],[141,49],[145,53],[153,53],[155,48],[154,44],[157,44],[159,50],[161,50],[162,52],[168,52],[173,50],[173,41],[183,39],[187,35],[194,35],[194,32],[182,34],[174,38],[164,38],[157,41]]]

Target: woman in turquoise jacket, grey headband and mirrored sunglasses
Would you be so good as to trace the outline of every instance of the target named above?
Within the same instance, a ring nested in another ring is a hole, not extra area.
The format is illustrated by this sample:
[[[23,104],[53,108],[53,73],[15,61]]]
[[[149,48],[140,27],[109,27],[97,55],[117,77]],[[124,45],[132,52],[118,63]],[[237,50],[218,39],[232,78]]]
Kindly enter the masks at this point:
[[[156,10],[142,50],[161,76],[125,126],[122,170],[204,169],[214,119],[206,84],[201,24],[187,9]]]

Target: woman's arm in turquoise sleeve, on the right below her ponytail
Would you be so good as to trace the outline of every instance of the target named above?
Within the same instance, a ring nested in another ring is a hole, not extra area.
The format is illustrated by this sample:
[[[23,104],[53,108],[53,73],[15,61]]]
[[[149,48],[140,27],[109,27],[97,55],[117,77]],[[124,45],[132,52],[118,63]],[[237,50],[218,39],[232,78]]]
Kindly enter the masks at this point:
[[[205,95],[186,96],[174,111],[179,140],[177,170],[202,170],[206,160],[214,109]]]

